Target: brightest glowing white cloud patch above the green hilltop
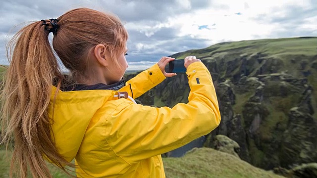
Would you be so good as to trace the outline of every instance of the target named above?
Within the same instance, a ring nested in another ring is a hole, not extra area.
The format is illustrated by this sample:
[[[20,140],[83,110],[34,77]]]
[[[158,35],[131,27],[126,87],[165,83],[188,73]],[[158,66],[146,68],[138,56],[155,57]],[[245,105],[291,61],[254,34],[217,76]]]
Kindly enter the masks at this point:
[[[169,17],[160,26],[179,29],[178,37],[208,39],[212,41],[211,44],[222,41],[252,40],[255,36],[269,38],[274,29],[282,28],[282,24],[258,22],[254,17],[264,14],[268,17],[286,17],[287,8],[284,7],[292,5],[304,9],[311,8],[309,0],[226,0],[225,2],[228,8],[218,9],[217,7],[224,2],[215,0],[208,9]],[[317,16],[305,19],[306,24],[303,28],[316,29],[316,18]],[[209,28],[199,29],[199,26]],[[153,32],[155,29],[154,27]]]

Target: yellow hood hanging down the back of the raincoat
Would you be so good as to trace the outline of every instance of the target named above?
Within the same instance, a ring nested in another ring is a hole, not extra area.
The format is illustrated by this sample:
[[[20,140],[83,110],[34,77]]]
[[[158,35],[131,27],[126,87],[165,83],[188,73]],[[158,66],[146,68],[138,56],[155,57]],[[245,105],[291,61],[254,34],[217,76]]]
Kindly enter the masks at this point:
[[[55,147],[67,161],[75,158],[86,129],[106,101],[116,100],[113,90],[61,91],[52,87],[49,117]],[[55,96],[56,93],[56,96]],[[55,97],[55,99],[54,99]]]

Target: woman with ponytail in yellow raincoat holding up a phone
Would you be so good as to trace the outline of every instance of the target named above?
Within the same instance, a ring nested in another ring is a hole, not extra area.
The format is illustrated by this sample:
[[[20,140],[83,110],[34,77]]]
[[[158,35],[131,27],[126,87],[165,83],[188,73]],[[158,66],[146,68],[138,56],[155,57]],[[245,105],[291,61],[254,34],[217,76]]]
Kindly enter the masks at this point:
[[[185,58],[187,104],[135,104],[133,98],[176,74],[164,71],[174,59],[162,57],[124,83],[127,38],[117,17],[88,8],[34,22],[15,35],[1,117],[4,140],[14,136],[11,177],[16,168],[26,178],[29,168],[34,178],[50,178],[46,160],[65,171],[75,159],[79,178],[164,178],[160,154],[219,125],[211,74],[195,56]]]

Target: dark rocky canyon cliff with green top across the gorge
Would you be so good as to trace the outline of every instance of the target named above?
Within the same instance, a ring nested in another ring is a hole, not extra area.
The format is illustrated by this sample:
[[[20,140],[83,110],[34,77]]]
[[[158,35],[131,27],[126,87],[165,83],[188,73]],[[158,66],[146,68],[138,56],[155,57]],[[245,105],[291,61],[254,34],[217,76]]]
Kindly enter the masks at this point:
[[[245,41],[172,57],[196,55],[211,72],[221,123],[208,139],[226,135],[239,144],[242,160],[289,169],[317,162],[316,46],[317,38]],[[187,76],[179,74],[138,99],[172,107],[188,102],[188,93]],[[205,146],[213,148],[211,140]]]

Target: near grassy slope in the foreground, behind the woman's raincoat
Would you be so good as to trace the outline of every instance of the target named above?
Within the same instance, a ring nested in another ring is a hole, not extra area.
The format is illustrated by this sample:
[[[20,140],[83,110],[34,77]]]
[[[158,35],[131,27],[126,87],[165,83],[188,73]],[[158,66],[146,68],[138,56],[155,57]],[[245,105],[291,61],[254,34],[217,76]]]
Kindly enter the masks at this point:
[[[10,154],[8,155],[10,157]],[[192,150],[182,158],[163,158],[166,178],[282,178],[211,148]],[[68,178],[50,165],[53,178]],[[8,178],[9,161],[0,151],[0,178]]]

